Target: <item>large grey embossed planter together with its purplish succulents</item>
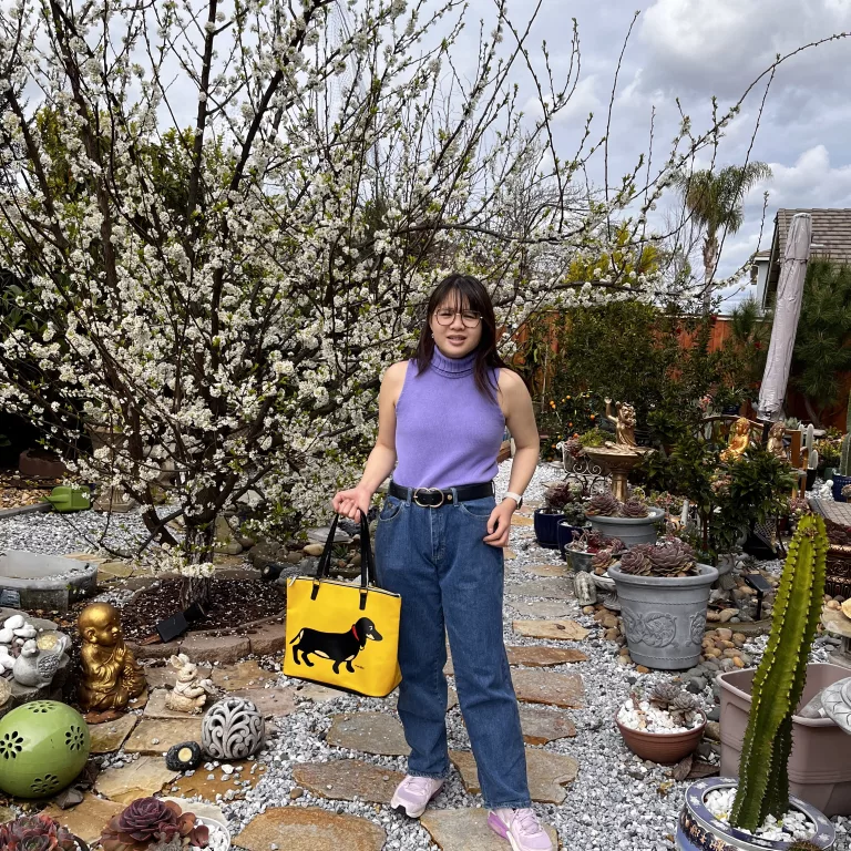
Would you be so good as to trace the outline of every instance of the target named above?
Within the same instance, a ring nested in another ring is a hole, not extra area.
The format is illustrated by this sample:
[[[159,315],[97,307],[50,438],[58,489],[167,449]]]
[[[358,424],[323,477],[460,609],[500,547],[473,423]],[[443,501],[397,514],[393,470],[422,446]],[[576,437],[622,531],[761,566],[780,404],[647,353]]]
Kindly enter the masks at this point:
[[[633,662],[663,670],[697,665],[718,571],[698,564],[694,550],[669,535],[627,550],[608,575],[617,586]]]

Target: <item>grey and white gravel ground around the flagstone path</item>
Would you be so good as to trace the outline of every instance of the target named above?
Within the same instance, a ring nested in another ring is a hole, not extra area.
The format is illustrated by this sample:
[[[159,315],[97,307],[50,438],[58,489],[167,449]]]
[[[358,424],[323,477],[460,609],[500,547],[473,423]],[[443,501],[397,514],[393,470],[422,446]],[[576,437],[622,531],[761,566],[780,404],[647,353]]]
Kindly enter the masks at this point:
[[[511,460],[500,468],[496,478],[498,499],[507,489],[510,473]],[[526,490],[526,498],[541,499],[544,490],[542,482],[560,476],[561,471],[552,465],[540,465]],[[96,540],[104,525],[103,515],[93,512],[79,513],[73,519],[57,514],[10,519],[0,522],[0,546],[32,548],[45,553],[72,552],[91,546],[88,539]],[[80,530],[85,532],[85,536],[80,534]],[[126,544],[127,536],[144,534],[144,530],[136,516],[125,514],[121,516],[117,527],[113,527],[111,534],[114,535],[112,540]],[[554,557],[553,551],[536,546],[531,527],[515,527],[510,546],[517,553],[517,558],[506,562],[507,594],[511,594],[512,585],[537,578],[526,572],[525,567],[552,562]],[[547,644],[516,636],[511,629],[511,618],[515,615],[515,609],[506,602],[506,642],[514,645]],[[561,843],[571,851],[669,851],[675,848],[673,835],[687,783],[670,781],[669,769],[646,763],[633,756],[624,746],[613,721],[617,707],[635,686],[642,689],[650,688],[655,683],[669,677],[663,673],[640,675],[633,667],[619,665],[617,645],[602,638],[602,630],[593,618],[581,614],[576,608],[575,619],[589,628],[591,635],[583,642],[560,643],[560,646],[581,648],[587,654],[588,660],[546,670],[582,674],[586,706],[577,710],[562,710],[574,720],[576,737],[551,742],[545,748],[577,759],[580,772],[576,781],[567,787],[567,797],[562,804],[535,804],[535,809],[542,819],[557,829]],[[763,647],[765,639],[755,639],[748,644],[747,649],[758,659]],[[820,644],[813,649],[813,659],[826,659],[829,649],[829,646]],[[265,659],[264,666],[280,670],[279,662],[271,658]],[[293,683],[283,675],[278,679],[278,685]],[[700,697],[706,709],[714,706],[710,687]],[[331,724],[330,716],[358,710],[392,711],[383,700],[341,695],[325,704],[304,701],[297,712],[270,725],[268,745],[258,756],[258,760],[268,766],[268,771],[258,786],[246,793],[245,800],[221,802],[232,831],[238,831],[267,808],[322,807],[334,812],[360,816],[381,824],[388,834],[385,845],[387,851],[438,851],[438,845],[431,842],[424,828],[387,808],[362,802],[330,801],[315,798],[307,791],[297,800],[290,798],[290,791],[296,786],[293,768],[298,762],[326,762],[346,757],[404,771],[403,758],[368,756],[359,751],[332,748],[326,744],[325,736]],[[468,749],[469,739],[458,707],[448,714],[447,722],[450,748]],[[117,761],[120,758],[112,760]],[[481,806],[481,798],[468,794],[460,776],[453,770],[432,806],[475,807]],[[839,841],[835,849],[849,851],[851,844],[848,831],[851,830],[851,822],[845,819],[838,822]]]

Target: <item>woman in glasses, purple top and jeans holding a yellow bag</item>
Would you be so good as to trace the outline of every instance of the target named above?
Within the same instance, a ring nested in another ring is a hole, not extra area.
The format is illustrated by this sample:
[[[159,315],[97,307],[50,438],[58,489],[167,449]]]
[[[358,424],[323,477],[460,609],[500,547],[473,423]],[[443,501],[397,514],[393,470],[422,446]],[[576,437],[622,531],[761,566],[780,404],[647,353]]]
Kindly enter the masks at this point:
[[[516,452],[498,505],[493,478],[505,423]],[[450,275],[429,299],[417,357],[385,373],[378,440],[360,483],[332,501],[335,511],[358,519],[393,473],[378,519],[376,567],[381,586],[402,597],[399,717],[411,753],[391,807],[419,818],[449,775],[449,634],[488,823],[514,851],[552,848],[531,809],[502,639],[502,551],[537,455],[532,400],[496,353],[490,296],[475,278]]]

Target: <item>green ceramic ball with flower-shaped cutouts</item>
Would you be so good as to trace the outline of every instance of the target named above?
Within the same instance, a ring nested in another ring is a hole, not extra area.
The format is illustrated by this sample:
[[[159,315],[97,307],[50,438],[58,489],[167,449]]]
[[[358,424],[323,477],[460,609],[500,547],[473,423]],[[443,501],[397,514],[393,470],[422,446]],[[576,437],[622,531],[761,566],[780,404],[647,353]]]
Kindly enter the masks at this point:
[[[64,789],[89,759],[89,727],[58,700],[34,700],[0,718],[0,790],[47,798]]]

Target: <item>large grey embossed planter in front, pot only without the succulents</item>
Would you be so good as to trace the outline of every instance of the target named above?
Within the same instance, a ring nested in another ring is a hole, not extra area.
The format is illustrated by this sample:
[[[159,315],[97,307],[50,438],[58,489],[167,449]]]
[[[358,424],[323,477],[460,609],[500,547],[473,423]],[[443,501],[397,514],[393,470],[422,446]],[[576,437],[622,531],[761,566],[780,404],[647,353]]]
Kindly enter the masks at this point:
[[[613,564],[629,656],[637,665],[658,670],[685,670],[697,665],[706,630],[709,588],[718,571],[698,564],[697,576],[633,576]]]

